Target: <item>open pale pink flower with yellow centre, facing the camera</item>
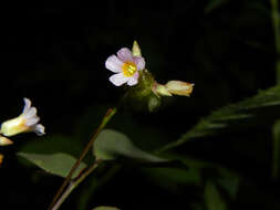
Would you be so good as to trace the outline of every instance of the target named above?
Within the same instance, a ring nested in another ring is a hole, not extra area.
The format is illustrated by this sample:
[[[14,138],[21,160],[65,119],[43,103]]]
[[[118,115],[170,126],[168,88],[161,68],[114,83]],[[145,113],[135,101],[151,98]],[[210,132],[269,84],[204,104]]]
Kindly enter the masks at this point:
[[[116,55],[111,55],[105,62],[107,70],[116,73],[108,80],[116,86],[125,83],[133,86],[138,83],[139,73],[145,69],[145,60],[141,54],[133,55],[132,51],[127,48],[121,49]]]

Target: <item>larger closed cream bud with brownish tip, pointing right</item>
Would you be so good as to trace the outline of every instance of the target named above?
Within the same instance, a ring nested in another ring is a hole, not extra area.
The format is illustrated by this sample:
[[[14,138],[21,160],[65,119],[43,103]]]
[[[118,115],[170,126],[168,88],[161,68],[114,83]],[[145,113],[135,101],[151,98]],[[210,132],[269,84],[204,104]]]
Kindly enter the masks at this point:
[[[189,96],[193,92],[193,86],[195,84],[186,83],[182,81],[169,81],[165,87],[166,90],[174,95],[183,95],[183,96]]]

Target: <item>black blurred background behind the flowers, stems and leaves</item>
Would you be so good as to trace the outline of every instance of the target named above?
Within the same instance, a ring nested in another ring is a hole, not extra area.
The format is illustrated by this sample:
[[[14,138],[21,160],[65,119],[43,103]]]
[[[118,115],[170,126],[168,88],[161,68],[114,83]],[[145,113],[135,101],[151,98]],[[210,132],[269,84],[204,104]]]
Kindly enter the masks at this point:
[[[62,178],[27,167],[17,153],[79,156],[106,109],[124,93],[110,83],[112,73],[104,63],[121,48],[132,48],[134,40],[157,82],[195,83],[190,97],[164,98],[154,113],[122,111],[108,124],[146,151],[175,141],[212,111],[276,85],[269,1],[11,2],[2,10],[0,119],[18,116],[28,97],[46,135],[19,135],[13,146],[0,148],[6,155],[0,209],[46,209]],[[271,179],[272,124],[268,119],[238,133],[191,140],[174,151],[241,177],[235,199],[226,201],[228,209],[279,209],[279,182]],[[104,174],[107,180],[102,182]],[[102,168],[61,209],[207,209],[204,181],[183,185],[164,175]]]

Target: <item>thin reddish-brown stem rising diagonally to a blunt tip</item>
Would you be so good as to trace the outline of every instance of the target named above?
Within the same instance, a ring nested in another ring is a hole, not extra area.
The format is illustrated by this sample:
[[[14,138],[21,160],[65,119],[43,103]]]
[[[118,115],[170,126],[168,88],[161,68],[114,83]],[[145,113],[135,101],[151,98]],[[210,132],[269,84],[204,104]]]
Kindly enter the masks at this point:
[[[52,210],[54,206],[56,206],[56,201],[60,199],[61,195],[63,193],[63,190],[65,189],[66,185],[70,182],[72,175],[75,172],[75,170],[77,169],[77,167],[80,166],[81,161],[83,160],[83,158],[85,157],[85,155],[89,153],[89,150],[91,149],[94,140],[96,139],[96,137],[98,136],[98,134],[101,133],[101,130],[106,126],[106,124],[110,122],[110,119],[115,115],[116,113],[116,108],[110,108],[106,113],[106,115],[104,116],[104,118],[102,119],[98,128],[96,129],[96,132],[94,133],[93,137],[91,138],[91,140],[87,143],[87,145],[85,146],[84,150],[82,151],[81,156],[79,157],[79,159],[76,160],[76,162],[74,164],[74,166],[71,168],[68,177],[64,179],[62,186],[60,187],[60,189],[58,190],[56,195],[54,196],[52,203],[49,206],[48,210]],[[80,182],[79,182],[80,183]],[[74,188],[73,188],[74,189]],[[69,193],[63,193],[63,196],[65,196],[65,198],[71,193],[71,191],[73,190],[71,188],[71,185],[69,186],[69,188],[66,189],[66,191],[69,191]],[[63,200],[65,200],[65,198]],[[61,200],[61,199],[60,199]]]

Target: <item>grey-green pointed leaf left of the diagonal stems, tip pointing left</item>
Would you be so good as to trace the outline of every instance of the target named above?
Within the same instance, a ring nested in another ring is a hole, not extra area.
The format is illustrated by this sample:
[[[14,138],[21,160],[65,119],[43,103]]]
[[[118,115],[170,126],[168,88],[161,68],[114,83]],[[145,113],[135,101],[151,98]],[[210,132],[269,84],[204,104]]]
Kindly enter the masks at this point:
[[[27,153],[19,153],[20,157],[23,157],[31,161],[32,164],[37,165],[39,168],[45,170],[46,172],[66,177],[70,172],[71,168],[75,164],[76,159],[68,154],[27,154]],[[72,178],[75,178],[81,170],[86,167],[84,162],[81,162]]]

